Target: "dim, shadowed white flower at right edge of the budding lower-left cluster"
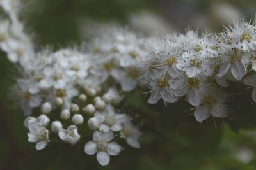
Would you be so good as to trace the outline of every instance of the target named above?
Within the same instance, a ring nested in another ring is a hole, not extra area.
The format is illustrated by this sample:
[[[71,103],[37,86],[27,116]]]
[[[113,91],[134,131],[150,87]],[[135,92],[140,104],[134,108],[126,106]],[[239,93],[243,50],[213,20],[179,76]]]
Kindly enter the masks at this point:
[[[120,135],[133,148],[140,148],[140,143],[138,142],[138,138],[140,138],[141,132],[138,129],[138,127],[135,127],[134,125],[131,124],[130,120],[126,120],[124,122],[124,127],[122,131],[120,131]]]

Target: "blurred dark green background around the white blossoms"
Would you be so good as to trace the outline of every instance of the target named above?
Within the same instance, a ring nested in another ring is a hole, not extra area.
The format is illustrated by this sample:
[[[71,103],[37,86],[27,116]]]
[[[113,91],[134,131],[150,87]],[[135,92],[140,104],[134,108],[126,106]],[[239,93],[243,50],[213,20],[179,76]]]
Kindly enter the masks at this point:
[[[153,26],[157,26],[156,29],[164,27],[163,31],[171,28],[184,31],[190,26],[220,32],[223,25],[232,23],[236,17],[246,16],[250,20],[255,9],[256,1],[253,0],[26,0],[20,18],[38,49],[46,45],[58,49],[72,43],[80,44],[88,33],[83,28],[86,30],[91,26],[88,20],[115,22],[140,31]],[[149,13],[149,17],[136,17],[141,16],[141,11]],[[157,17],[152,17],[155,15]],[[150,25],[152,23],[155,25]],[[181,115],[178,119],[182,123],[177,127],[176,117],[170,114],[167,129],[172,132],[160,133],[158,131],[165,127],[161,124],[155,127],[155,116],[148,114],[147,108],[141,108],[143,96],[138,92],[130,94],[126,102],[135,113],[141,113],[141,149],[122,144],[124,150],[111,157],[106,167],[97,164],[95,155],[84,153],[85,142],[74,147],[50,143],[44,150],[36,151],[35,145],[27,142],[22,113],[8,98],[18,75],[16,66],[6,59],[3,52],[0,55],[0,169],[256,169],[256,128],[253,126],[237,132],[227,123],[218,123],[218,127],[214,127],[212,120],[199,124],[193,117]],[[158,104],[150,107],[168,114],[181,106],[166,109],[163,104]],[[157,117],[156,122],[161,121],[161,117]]]

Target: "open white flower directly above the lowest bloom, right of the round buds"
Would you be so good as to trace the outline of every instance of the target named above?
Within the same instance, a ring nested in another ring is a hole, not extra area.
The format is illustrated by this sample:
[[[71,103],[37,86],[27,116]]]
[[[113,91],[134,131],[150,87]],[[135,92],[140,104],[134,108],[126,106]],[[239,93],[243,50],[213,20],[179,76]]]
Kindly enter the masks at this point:
[[[95,112],[94,117],[100,121],[99,130],[102,132],[120,131],[125,120],[125,115],[115,113],[110,104],[102,112]]]

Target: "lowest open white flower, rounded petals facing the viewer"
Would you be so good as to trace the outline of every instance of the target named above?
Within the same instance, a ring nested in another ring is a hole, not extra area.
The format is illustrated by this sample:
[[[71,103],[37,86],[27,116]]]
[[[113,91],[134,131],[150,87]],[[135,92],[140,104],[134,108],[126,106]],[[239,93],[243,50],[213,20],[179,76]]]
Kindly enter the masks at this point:
[[[109,143],[114,138],[114,134],[111,131],[101,133],[95,131],[93,133],[93,141],[88,141],[84,146],[84,152],[88,155],[94,155],[100,165],[106,166],[109,164],[109,155],[118,155],[121,151],[121,146],[115,142]]]

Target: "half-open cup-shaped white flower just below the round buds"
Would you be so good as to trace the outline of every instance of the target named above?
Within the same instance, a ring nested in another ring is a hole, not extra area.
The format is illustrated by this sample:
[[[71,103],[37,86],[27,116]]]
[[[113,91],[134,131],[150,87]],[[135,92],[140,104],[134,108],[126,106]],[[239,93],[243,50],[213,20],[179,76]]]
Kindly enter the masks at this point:
[[[81,137],[75,125],[70,125],[67,129],[60,129],[58,136],[61,140],[70,143],[70,145],[75,145]]]

